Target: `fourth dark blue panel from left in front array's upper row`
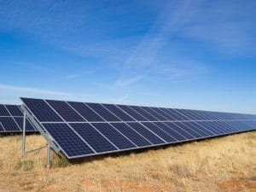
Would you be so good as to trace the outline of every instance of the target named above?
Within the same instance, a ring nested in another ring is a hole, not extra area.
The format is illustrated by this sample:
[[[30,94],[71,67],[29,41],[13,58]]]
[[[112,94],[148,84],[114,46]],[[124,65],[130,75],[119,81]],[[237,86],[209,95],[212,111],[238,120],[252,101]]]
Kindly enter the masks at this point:
[[[108,109],[103,108],[101,104],[98,103],[86,103],[90,108],[92,108],[96,113],[102,116],[103,119],[107,121],[120,121],[113,113],[110,113]]]

